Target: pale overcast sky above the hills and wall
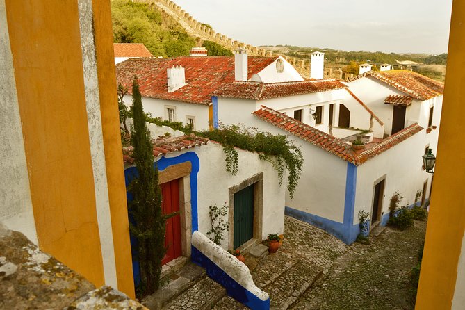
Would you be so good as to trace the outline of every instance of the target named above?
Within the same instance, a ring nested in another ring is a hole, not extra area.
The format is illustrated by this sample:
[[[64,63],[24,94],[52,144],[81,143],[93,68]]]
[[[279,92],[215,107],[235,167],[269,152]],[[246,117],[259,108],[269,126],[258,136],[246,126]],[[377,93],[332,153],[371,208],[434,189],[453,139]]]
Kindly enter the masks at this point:
[[[447,52],[452,0],[174,0],[199,22],[252,45]]]

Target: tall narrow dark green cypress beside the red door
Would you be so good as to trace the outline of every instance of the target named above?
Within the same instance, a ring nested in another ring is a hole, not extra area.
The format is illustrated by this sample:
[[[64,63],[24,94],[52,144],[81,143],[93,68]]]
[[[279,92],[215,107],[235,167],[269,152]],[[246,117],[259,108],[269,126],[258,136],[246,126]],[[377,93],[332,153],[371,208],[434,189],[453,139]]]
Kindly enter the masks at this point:
[[[129,186],[133,201],[129,212],[135,225],[130,225],[131,233],[138,240],[138,258],[142,295],[152,294],[158,289],[161,274],[161,260],[165,256],[166,219],[161,208],[161,188],[158,186],[158,169],[154,166],[152,136],[145,123],[137,77],[133,79],[133,128],[131,144],[133,158],[138,170],[138,178]]]

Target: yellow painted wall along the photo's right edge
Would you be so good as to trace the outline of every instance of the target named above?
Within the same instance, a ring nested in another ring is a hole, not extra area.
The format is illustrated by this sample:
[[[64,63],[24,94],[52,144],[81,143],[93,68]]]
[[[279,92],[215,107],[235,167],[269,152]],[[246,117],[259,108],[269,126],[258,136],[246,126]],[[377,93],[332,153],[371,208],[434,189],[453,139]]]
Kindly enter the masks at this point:
[[[454,0],[437,165],[416,309],[450,309],[465,231],[465,1]]]

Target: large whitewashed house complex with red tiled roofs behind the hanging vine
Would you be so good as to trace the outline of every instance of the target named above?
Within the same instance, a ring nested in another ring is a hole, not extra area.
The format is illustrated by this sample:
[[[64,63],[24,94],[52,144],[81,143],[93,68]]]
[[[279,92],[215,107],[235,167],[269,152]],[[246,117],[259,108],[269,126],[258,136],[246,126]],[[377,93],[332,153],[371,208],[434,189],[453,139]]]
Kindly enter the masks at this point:
[[[400,83],[384,85],[385,81],[372,76],[391,74],[389,71],[366,72],[349,83],[304,81],[297,79],[291,68],[286,71],[286,62],[280,59],[247,59],[238,51],[235,60],[127,60],[117,71],[118,80],[126,85],[133,74],[141,76],[142,101],[153,116],[183,121],[191,115],[197,130],[242,123],[291,138],[302,147],[304,167],[294,199],[286,195],[286,213],[326,229],[345,243],[357,237],[361,209],[371,213],[372,227],[386,224],[395,190],[400,190],[403,203],[409,204],[414,204],[417,191],[423,190],[421,201],[425,203],[431,175],[422,169],[421,156],[426,147],[436,147],[434,124],[440,117],[435,113],[440,113],[441,83],[411,75],[411,88],[437,94],[424,102],[418,90],[410,91]],[[323,66],[318,60],[314,67]],[[312,69],[313,74],[323,72],[320,69]],[[168,76],[174,71],[172,76],[180,83],[167,79],[167,71]],[[179,80],[183,74],[185,81]],[[393,104],[407,100],[405,92],[411,97],[411,106],[406,108],[403,127],[393,131]],[[432,117],[425,115],[428,104],[436,106]],[[366,142],[364,149],[352,149],[351,142],[356,139]]]

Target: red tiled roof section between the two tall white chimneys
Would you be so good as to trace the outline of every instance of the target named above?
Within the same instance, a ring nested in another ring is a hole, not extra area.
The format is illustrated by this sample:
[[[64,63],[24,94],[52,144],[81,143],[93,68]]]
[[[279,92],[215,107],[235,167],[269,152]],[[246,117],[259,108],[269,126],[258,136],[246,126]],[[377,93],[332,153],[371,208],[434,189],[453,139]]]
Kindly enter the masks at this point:
[[[213,96],[243,99],[270,99],[347,88],[337,80],[307,80],[279,83],[234,82],[213,92]]]

